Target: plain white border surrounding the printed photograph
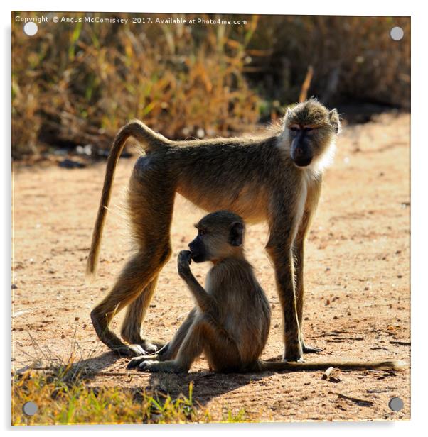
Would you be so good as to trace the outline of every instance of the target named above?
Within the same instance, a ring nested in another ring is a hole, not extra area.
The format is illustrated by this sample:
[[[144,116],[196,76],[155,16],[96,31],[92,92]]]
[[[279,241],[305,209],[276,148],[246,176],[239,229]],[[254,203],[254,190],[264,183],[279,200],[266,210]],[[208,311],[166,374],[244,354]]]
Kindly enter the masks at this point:
[[[422,2],[405,1],[405,2],[382,2],[373,0],[358,0],[355,3],[349,1],[327,0],[325,2],[306,0],[304,2],[260,2],[245,1],[242,3],[232,2],[230,0],[215,0],[211,4],[201,1],[170,1],[164,0],[159,2],[132,2],[121,1],[119,4],[108,4],[106,1],[83,1],[75,0],[69,4],[60,4],[58,1],[19,1],[11,2],[9,5],[1,4],[1,51],[3,60],[1,69],[1,95],[4,101],[0,105],[0,123],[1,132],[4,132],[1,156],[1,165],[3,166],[3,189],[1,202],[4,213],[1,215],[1,243],[4,250],[1,251],[1,266],[4,267],[3,289],[4,296],[4,317],[6,320],[1,323],[4,332],[4,348],[10,351],[10,140],[11,140],[11,88],[10,88],[10,30],[11,30],[11,10],[15,11],[146,11],[146,12],[205,12],[205,13],[287,13],[287,14],[311,14],[311,15],[392,15],[392,16],[412,16],[412,420],[397,423],[352,423],[352,424],[239,424],[237,426],[228,425],[224,428],[225,432],[245,432],[245,433],[299,433],[307,435],[314,432],[317,435],[328,436],[360,436],[364,433],[367,436],[387,433],[388,437],[402,436],[405,432],[414,433],[418,428],[424,426],[424,416],[427,414],[425,406],[427,404],[427,376],[425,363],[424,348],[427,341],[424,341],[424,334],[427,331],[425,325],[428,309],[427,292],[428,280],[424,275],[427,271],[427,255],[424,247],[428,245],[427,231],[425,230],[428,223],[427,209],[427,179],[425,175],[425,162],[427,158],[427,107],[424,103],[427,101],[427,55],[424,53],[427,42],[427,16],[420,6]],[[10,7],[8,7],[10,6]],[[416,237],[415,237],[416,236]],[[5,310],[6,309],[6,310]],[[1,382],[5,382],[1,393],[1,418],[5,431],[11,431],[10,426],[10,360],[9,354],[4,353],[4,359],[1,361]],[[154,433],[163,433],[172,431],[173,433],[218,433],[222,425],[208,426],[156,426],[147,428],[141,426],[79,426],[73,427],[33,427],[31,431],[36,433],[45,433],[53,431],[55,433],[64,431],[90,432],[90,431],[126,431],[144,433],[145,431]],[[15,432],[23,433],[29,429],[14,428]]]

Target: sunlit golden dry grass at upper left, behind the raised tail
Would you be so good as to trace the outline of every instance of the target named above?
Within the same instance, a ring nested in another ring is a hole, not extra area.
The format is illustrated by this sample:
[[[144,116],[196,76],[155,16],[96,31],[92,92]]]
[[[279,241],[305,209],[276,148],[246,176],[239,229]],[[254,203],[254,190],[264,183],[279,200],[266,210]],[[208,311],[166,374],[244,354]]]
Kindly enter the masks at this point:
[[[259,114],[243,75],[256,25],[232,38],[225,26],[48,23],[32,39],[14,26],[14,157],[38,142],[109,148],[130,118],[172,138],[242,132]]]

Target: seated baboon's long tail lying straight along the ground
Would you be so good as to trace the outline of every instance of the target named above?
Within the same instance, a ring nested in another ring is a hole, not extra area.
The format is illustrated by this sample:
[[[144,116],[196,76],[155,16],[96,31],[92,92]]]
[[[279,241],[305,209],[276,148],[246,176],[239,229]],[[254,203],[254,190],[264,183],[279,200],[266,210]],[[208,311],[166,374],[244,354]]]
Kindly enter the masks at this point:
[[[285,362],[272,362],[272,361],[260,361],[260,370],[273,370],[279,372],[287,370],[289,372],[302,372],[304,370],[327,370],[328,367],[336,367],[342,370],[389,370],[389,369],[402,369],[406,366],[406,363],[402,360],[388,360],[388,361],[344,361],[344,362],[326,362],[326,363],[285,363]]]

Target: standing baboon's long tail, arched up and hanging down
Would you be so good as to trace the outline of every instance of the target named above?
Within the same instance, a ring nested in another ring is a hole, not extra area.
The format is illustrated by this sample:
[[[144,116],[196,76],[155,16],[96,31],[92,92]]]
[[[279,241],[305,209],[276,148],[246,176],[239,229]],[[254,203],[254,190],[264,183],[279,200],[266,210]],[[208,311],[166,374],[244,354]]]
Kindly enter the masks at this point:
[[[100,199],[100,206],[98,207],[97,219],[95,221],[94,231],[92,233],[92,242],[90,252],[87,257],[86,264],[86,279],[88,282],[95,280],[97,275],[98,255],[100,254],[100,244],[102,237],[102,230],[105,224],[107,215],[107,208],[109,206],[110,197],[112,194],[112,185],[114,178],[114,171],[116,170],[117,161],[122,153],[124,145],[129,137],[135,138],[140,144],[141,148],[148,150],[159,150],[166,148],[172,141],[165,138],[163,135],[152,131],[141,121],[130,121],[114,138],[112,149],[110,150],[107,159],[107,167],[105,170],[104,186],[102,187],[102,194]]]

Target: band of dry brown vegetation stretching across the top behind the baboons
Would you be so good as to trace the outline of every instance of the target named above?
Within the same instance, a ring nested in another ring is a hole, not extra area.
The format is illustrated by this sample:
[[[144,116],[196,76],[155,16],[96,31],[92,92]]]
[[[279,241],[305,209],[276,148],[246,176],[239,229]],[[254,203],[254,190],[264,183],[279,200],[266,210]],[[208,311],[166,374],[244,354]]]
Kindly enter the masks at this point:
[[[13,21],[14,158],[58,146],[109,148],[130,118],[171,138],[249,131],[298,99],[309,65],[309,95],[326,104],[409,106],[410,18],[221,18],[247,24],[50,22],[29,38]],[[389,34],[396,25],[405,31],[400,42]]]

